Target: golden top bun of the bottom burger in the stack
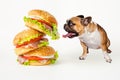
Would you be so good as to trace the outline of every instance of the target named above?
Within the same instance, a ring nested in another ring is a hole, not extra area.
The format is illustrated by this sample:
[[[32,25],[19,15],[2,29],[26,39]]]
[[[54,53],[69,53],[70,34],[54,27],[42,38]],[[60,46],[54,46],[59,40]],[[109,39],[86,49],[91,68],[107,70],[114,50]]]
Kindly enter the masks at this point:
[[[44,46],[33,51],[26,53],[26,56],[52,56],[55,54],[55,50],[50,46]]]

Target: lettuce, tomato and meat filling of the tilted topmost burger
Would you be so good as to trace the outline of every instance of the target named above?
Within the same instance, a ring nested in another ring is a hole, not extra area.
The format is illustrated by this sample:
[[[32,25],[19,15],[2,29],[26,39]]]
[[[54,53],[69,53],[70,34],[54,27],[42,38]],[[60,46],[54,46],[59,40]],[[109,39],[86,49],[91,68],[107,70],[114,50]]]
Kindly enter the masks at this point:
[[[52,23],[49,24],[45,20],[38,20],[34,18],[24,17],[24,22],[34,23],[36,24],[42,31],[45,32],[48,36],[51,36],[51,39],[55,40],[59,38],[57,25]]]

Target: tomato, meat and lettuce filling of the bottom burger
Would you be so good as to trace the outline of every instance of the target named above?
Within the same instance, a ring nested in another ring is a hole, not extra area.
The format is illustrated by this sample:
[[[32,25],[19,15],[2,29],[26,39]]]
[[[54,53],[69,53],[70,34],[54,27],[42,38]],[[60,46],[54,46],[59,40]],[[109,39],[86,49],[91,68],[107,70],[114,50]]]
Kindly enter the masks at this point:
[[[48,60],[50,60],[51,64],[54,64],[58,58],[58,53],[56,52],[52,56],[26,56],[20,55],[18,56],[17,61],[23,65],[30,65],[31,62],[40,62],[41,64],[46,64]]]

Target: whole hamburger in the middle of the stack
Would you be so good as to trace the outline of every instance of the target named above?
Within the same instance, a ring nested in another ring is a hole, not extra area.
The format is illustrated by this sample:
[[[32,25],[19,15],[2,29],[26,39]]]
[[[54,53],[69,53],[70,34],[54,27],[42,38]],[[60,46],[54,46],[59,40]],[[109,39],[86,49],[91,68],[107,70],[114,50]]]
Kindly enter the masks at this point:
[[[49,44],[48,39],[45,38],[45,34],[34,29],[26,29],[19,32],[14,40],[15,53],[22,55],[31,50],[37,49]]]

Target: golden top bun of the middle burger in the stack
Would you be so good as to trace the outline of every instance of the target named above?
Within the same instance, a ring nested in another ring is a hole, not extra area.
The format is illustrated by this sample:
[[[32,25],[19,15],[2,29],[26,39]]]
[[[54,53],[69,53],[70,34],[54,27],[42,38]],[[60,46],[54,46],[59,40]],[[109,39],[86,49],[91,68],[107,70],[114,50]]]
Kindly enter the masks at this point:
[[[21,32],[19,32],[14,40],[13,40],[13,44],[14,45],[18,45],[18,44],[22,44],[23,41],[28,40],[30,38],[36,38],[39,36],[44,36],[44,33],[40,33],[39,31],[36,31],[34,29],[26,29],[23,30]]]

